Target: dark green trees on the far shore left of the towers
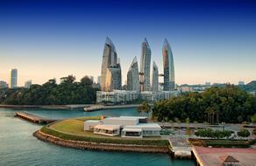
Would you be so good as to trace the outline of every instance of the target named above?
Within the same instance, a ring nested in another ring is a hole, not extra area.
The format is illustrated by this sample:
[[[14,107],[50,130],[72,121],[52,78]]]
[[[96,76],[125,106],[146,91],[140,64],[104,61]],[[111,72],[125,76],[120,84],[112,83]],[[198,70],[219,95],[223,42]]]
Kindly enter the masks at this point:
[[[96,101],[96,91],[93,82],[85,76],[80,82],[69,75],[56,80],[48,80],[42,86],[32,85],[29,89],[4,89],[0,92],[0,102],[12,105],[65,105],[86,104]]]

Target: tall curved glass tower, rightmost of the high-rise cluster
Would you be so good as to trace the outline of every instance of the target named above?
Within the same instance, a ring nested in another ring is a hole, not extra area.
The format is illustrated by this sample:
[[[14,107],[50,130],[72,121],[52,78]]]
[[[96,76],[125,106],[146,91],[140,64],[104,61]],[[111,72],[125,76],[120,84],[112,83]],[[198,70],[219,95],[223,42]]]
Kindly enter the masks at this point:
[[[171,47],[165,39],[163,49],[163,67],[164,67],[164,91],[174,90],[175,80],[174,80],[174,57]]]

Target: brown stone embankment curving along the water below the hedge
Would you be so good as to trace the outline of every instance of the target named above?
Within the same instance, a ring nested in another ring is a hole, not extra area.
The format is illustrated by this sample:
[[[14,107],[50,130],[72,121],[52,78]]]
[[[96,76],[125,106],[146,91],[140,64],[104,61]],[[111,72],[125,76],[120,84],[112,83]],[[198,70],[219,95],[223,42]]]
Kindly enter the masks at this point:
[[[145,153],[168,153],[167,147],[151,146],[151,145],[124,145],[112,143],[97,143],[97,142],[80,142],[73,140],[63,140],[53,135],[47,135],[40,130],[33,133],[39,140],[52,142],[54,144],[75,148],[75,149],[96,149],[110,151],[125,151],[125,152],[145,152]]]

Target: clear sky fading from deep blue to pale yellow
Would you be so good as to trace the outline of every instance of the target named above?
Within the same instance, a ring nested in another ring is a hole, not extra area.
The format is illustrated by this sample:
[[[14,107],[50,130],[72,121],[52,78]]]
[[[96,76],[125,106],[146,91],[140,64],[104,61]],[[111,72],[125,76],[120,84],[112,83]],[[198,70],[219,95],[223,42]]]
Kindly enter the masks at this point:
[[[97,76],[109,36],[123,83],[146,37],[162,73],[164,38],[178,84],[256,80],[256,1],[0,1],[0,80],[18,85],[74,74]]]

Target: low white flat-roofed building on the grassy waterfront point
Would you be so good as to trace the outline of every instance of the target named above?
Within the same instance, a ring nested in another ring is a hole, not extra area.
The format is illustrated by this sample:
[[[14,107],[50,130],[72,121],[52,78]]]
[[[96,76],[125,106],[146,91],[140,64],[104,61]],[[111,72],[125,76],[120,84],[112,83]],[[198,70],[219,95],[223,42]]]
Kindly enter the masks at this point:
[[[119,116],[105,118],[102,121],[84,121],[84,130],[93,130],[98,135],[143,138],[160,136],[161,127],[157,123],[147,123],[147,117]]]

